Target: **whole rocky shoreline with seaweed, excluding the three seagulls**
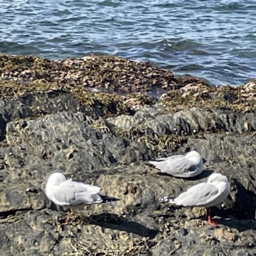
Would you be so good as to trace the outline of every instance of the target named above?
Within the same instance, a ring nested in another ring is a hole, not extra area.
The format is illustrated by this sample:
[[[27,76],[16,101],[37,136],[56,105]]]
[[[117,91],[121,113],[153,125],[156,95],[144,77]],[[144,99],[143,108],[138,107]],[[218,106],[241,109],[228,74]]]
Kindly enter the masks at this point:
[[[0,54],[0,255],[255,255],[256,80],[232,88],[112,56]],[[153,93],[152,93],[153,92]],[[197,148],[175,179],[148,161]],[[65,212],[44,194],[59,169],[118,202]],[[231,193],[205,210],[160,205],[212,172]]]

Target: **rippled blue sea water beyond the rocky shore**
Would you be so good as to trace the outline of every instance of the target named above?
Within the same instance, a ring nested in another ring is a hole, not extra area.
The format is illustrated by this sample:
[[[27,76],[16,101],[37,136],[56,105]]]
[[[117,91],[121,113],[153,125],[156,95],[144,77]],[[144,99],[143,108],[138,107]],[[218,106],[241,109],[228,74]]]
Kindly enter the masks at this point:
[[[0,52],[112,54],[213,84],[256,77],[256,1],[1,1]]]

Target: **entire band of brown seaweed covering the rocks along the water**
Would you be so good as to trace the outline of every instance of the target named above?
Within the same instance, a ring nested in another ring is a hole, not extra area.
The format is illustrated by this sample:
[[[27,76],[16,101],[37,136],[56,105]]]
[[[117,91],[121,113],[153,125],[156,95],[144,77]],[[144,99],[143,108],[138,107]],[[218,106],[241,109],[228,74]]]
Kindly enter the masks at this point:
[[[255,80],[237,88],[216,88],[204,79],[175,77],[150,63],[115,56],[48,60],[1,54],[0,75],[1,98],[35,92],[71,93],[82,106],[100,109],[104,117],[134,115],[146,104],[157,104],[166,113],[196,106],[247,113],[256,106]],[[92,92],[92,88],[101,92]],[[166,91],[160,100],[147,95],[154,88]],[[34,110],[35,116],[44,115]]]

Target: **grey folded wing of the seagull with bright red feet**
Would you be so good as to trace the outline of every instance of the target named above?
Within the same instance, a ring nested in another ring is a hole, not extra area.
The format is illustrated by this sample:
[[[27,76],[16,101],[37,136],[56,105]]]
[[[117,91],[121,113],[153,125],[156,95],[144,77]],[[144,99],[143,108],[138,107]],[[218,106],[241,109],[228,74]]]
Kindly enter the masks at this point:
[[[205,205],[215,200],[218,196],[216,186],[208,183],[200,183],[188,189],[188,191],[180,194],[175,198],[174,202],[177,205]]]

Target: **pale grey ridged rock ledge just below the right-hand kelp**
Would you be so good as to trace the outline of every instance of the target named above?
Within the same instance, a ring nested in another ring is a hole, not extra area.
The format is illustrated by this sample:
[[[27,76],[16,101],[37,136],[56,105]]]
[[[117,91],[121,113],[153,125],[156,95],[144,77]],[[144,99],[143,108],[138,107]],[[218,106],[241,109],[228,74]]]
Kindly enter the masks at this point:
[[[148,114],[148,112],[150,112]],[[136,127],[147,126],[159,136],[164,134],[191,135],[193,132],[237,132],[243,134],[248,131],[256,131],[256,120],[253,113],[244,115],[232,111],[221,111],[202,108],[191,108],[177,113],[166,115],[157,108],[143,108],[134,116],[120,115],[109,118],[117,127],[131,130]],[[249,122],[246,122],[249,120]],[[244,124],[246,122],[246,127]],[[195,131],[194,131],[195,130]]]

